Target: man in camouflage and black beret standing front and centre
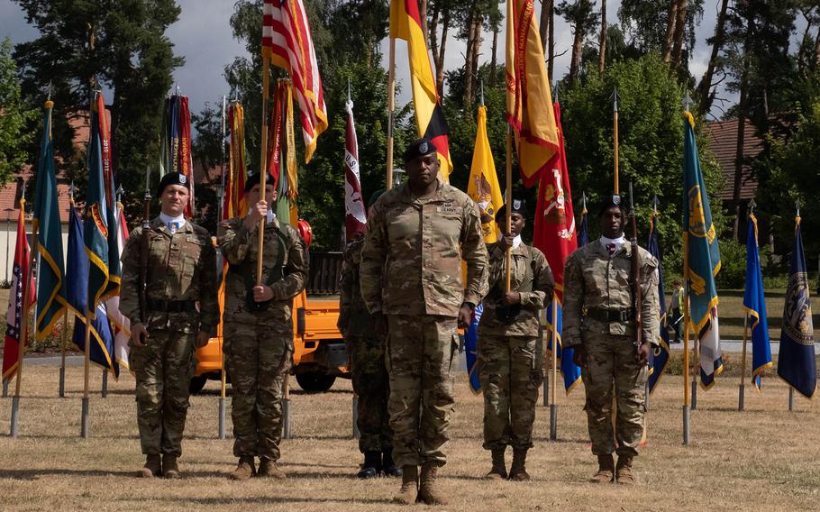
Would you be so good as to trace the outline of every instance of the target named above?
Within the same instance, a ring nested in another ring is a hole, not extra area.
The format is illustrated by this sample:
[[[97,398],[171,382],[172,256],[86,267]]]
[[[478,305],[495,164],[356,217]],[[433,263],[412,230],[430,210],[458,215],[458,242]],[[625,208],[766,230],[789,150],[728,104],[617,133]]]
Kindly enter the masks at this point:
[[[410,144],[405,170],[408,181],[379,197],[370,213],[360,286],[379,332],[388,332],[393,455],[403,471],[395,500],[442,504],[435,481],[446,461],[452,351],[458,325],[469,325],[487,291],[487,248],[478,207],[439,178],[432,142]]]

